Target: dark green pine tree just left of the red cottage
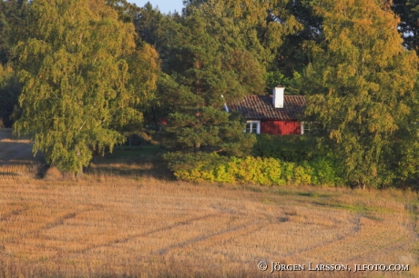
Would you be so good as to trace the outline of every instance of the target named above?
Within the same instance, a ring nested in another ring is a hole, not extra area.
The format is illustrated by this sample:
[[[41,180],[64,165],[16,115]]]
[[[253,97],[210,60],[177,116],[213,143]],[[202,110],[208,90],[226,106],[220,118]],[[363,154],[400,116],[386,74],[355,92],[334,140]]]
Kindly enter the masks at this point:
[[[263,89],[263,68],[246,49],[222,45],[195,14],[173,21],[169,29],[168,58],[159,97],[169,104],[173,142],[184,151],[216,151],[233,155],[250,152],[252,136],[226,101]]]

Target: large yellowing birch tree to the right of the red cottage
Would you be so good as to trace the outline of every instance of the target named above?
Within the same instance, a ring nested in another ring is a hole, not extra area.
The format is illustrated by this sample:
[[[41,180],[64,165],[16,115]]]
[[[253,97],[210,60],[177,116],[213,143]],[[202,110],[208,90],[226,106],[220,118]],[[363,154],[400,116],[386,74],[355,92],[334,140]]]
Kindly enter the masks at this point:
[[[322,124],[322,147],[341,160],[353,185],[390,184],[406,163],[395,155],[401,145],[412,154],[410,162],[417,154],[417,144],[407,142],[418,139],[413,126],[418,60],[403,47],[399,19],[385,4],[325,0],[317,5],[324,42],[312,47],[303,78],[311,95],[308,119]]]

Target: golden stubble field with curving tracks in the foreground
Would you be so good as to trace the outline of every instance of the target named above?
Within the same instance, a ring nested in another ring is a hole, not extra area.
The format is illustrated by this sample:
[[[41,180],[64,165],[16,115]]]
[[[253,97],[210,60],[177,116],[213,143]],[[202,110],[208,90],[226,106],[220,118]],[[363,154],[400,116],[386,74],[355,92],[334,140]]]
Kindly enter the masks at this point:
[[[188,184],[132,158],[36,179],[15,145],[30,150],[0,130],[0,277],[419,276],[415,192]],[[271,273],[271,262],[305,270]],[[353,272],[370,263],[409,271]]]

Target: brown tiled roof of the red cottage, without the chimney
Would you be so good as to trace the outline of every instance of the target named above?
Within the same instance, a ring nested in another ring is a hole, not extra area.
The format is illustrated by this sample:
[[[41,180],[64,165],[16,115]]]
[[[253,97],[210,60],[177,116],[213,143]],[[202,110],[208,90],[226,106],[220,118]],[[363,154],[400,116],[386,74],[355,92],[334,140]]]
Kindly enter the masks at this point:
[[[297,120],[305,106],[302,95],[284,95],[283,108],[274,108],[271,95],[246,95],[241,102],[232,102],[228,107],[238,111],[249,120]]]

